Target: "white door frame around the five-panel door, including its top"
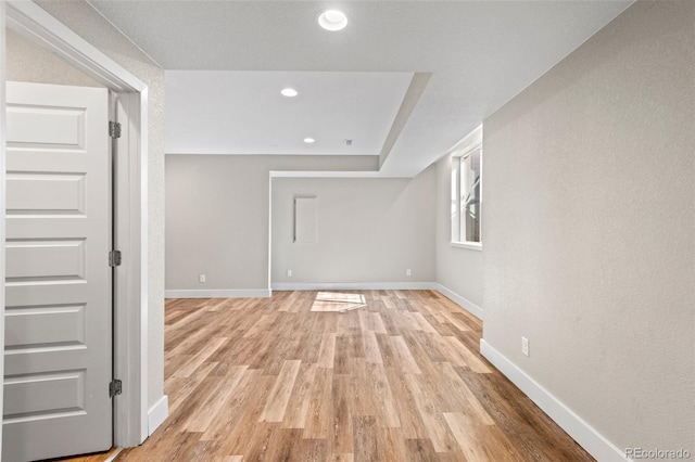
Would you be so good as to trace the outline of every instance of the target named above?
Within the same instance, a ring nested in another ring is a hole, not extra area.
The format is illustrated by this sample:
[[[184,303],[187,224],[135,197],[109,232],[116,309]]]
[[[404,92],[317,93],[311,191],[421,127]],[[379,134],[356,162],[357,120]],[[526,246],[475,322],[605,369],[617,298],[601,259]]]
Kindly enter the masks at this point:
[[[5,209],[5,26],[51,51],[118,95],[117,209],[114,239],[123,253],[114,293],[114,446],[137,446],[148,428],[148,87],[121,65],[27,0],[0,1],[0,216]],[[106,127],[104,127],[104,130]],[[4,281],[5,222],[0,220],[0,281]],[[0,348],[4,352],[4,284],[0,284]],[[3,376],[0,355],[0,377]],[[106,384],[104,384],[106,386]],[[0,386],[0,415],[2,387]],[[0,448],[1,448],[0,437]]]

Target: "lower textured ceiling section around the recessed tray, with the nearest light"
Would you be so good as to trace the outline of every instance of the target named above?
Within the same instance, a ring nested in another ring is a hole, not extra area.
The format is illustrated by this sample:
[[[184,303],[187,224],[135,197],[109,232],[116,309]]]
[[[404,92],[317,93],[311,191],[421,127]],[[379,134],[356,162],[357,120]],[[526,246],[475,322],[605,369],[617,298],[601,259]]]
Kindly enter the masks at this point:
[[[382,168],[386,175],[413,176],[631,1],[91,3],[165,69],[431,73]],[[328,7],[345,11],[350,24],[344,30],[328,33],[316,25],[316,16]],[[320,79],[315,85],[317,92],[330,87]],[[334,104],[326,104],[340,111],[342,97],[336,98]],[[298,107],[301,104],[298,101]],[[249,107],[240,105],[238,110]],[[365,117],[369,105],[361,111],[352,117]],[[392,114],[386,113],[382,125],[393,121]],[[248,118],[248,123],[257,117]],[[300,125],[318,126],[321,120],[326,120],[325,113],[302,108],[294,118],[298,136],[303,136]],[[338,128],[332,132],[338,133]],[[351,137],[367,138],[361,133]],[[268,139],[258,142],[267,146],[274,143],[268,133]],[[227,142],[230,153],[239,151],[233,139]],[[302,147],[296,154],[307,153]],[[257,146],[256,152],[263,149]]]

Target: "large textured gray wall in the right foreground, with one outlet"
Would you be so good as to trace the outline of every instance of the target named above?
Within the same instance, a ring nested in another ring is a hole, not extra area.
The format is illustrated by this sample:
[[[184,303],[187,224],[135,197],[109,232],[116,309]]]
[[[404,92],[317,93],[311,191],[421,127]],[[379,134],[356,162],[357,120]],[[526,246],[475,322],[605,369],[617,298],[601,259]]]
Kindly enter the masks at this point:
[[[484,124],[484,339],[621,449],[695,452],[694,26],[636,2]]]

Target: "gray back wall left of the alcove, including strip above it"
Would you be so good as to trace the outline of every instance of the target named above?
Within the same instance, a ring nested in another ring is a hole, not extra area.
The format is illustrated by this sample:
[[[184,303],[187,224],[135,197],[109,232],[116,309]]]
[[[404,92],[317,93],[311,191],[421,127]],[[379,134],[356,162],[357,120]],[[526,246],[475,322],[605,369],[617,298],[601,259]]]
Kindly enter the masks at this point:
[[[166,288],[267,290],[269,171],[374,170],[377,162],[376,156],[166,156]]]

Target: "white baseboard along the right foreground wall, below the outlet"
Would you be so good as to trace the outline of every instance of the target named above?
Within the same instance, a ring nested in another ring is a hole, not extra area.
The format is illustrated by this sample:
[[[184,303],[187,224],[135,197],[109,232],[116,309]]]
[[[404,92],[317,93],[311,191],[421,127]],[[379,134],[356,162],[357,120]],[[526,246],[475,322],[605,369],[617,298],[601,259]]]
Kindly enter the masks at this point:
[[[480,341],[480,354],[488,358],[526,396],[555,421],[569,436],[579,442],[597,461],[629,461],[626,454],[577,415],[559,399],[543,388],[526,372],[509,361],[484,339]]]

